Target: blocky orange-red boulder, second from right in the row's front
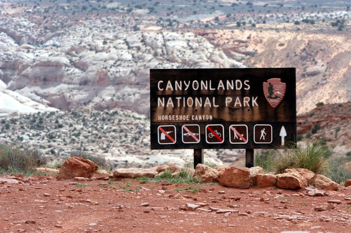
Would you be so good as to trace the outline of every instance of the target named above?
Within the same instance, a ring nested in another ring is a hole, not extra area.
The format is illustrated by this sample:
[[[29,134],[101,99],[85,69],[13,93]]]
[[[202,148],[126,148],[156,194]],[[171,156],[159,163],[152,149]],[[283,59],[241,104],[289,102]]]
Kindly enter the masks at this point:
[[[281,189],[302,189],[307,187],[307,180],[298,173],[283,173],[276,175],[277,187]]]

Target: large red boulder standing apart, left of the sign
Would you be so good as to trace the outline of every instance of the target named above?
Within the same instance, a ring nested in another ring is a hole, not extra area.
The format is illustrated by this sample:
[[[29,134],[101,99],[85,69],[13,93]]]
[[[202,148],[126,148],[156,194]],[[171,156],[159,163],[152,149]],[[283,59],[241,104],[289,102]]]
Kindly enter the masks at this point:
[[[85,160],[81,157],[70,157],[59,169],[57,179],[73,179],[75,177],[91,178],[96,170],[98,170],[98,165],[95,162]]]

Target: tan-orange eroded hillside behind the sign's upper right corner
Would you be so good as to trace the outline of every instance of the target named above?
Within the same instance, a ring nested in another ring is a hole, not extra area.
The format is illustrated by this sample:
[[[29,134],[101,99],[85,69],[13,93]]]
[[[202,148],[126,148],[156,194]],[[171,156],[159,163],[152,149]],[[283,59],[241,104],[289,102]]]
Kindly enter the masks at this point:
[[[351,101],[351,34],[338,31],[330,22],[212,33],[196,30],[196,34],[249,67],[296,67],[298,114],[312,110],[318,102]]]

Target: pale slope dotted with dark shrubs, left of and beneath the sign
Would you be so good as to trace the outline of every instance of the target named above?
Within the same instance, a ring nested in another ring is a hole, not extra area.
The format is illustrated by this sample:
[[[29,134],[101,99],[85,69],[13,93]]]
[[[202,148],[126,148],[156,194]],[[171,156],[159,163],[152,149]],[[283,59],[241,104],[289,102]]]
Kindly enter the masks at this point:
[[[0,120],[1,143],[43,151],[53,163],[81,150],[102,155],[113,167],[150,167],[170,163],[192,166],[193,150],[150,150],[150,121],[123,109],[33,113]],[[243,150],[206,150],[207,163],[238,160]]]

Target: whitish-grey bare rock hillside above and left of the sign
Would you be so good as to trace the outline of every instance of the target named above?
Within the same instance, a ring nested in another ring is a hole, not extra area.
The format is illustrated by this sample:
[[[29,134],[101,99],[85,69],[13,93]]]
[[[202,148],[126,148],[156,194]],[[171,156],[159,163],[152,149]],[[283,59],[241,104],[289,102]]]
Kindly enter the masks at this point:
[[[149,114],[150,68],[245,67],[202,36],[126,30],[119,17],[44,28],[28,18],[1,18],[0,80],[2,89],[61,110],[83,103]]]

